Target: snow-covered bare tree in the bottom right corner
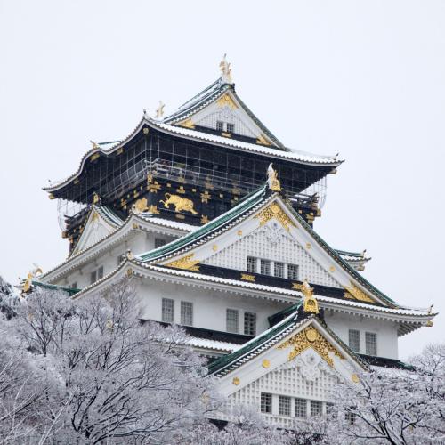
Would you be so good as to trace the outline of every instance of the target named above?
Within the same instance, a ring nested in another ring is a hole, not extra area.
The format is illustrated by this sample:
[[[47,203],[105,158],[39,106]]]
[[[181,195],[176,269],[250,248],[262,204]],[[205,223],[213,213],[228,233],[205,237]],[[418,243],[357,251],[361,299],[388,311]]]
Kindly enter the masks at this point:
[[[339,410],[323,419],[326,443],[445,442],[445,344],[413,357],[413,371],[371,369],[334,394]]]

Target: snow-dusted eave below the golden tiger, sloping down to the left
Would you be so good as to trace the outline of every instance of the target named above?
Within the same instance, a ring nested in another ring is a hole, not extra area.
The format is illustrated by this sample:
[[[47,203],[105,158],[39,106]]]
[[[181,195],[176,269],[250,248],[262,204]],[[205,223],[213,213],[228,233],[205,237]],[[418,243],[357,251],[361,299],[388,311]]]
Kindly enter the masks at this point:
[[[109,233],[109,235],[99,239],[92,246],[86,247],[75,255],[70,255],[63,263],[60,263],[50,271],[45,272],[39,279],[44,280],[44,282],[60,279],[69,273],[69,271],[76,269],[83,263],[91,261],[93,257],[101,254],[101,252],[109,249],[110,246],[116,244],[131,232],[137,231],[138,229],[142,231],[158,231],[159,233],[165,233],[167,235],[181,236],[198,229],[198,227],[161,218],[150,218],[149,214],[132,213],[129,214],[125,222],[123,222],[116,231]],[[101,248],[97,248],[99,246],[101,246]]]

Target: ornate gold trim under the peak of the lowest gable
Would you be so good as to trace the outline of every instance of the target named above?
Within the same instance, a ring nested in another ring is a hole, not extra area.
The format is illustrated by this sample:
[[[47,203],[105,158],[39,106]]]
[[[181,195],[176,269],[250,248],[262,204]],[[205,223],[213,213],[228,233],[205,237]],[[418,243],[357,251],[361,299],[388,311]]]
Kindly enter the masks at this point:
[[[288,361],[294,360],[295,357],[308,348],[312,348],[315,352],[318,352],[321,358],[325,360],[331,368],[334,368],[334,360],[329,356],[329,353],[333,353],[339,359],[344,360],[344,356],[312,326],[304,328],[301,332],[295,334],[295,336],[292,336],[283,344],[279,344],[277,349],[286,349],[288,347],[293,348],[292,351],[289,352],[287,358]]]

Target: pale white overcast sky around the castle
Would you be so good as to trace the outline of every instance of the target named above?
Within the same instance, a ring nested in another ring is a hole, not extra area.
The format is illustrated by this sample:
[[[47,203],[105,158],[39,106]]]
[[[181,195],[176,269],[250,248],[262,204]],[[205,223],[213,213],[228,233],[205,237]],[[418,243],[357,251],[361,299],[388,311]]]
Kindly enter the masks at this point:
[[[373,257],[366,278],[435,304],[445,339],[445,2],[0,0],[0,273],[17,282],[68,253],[41,190],[96,142],[131,133],[219,76],[287,146],[346,159],[315,229]]]

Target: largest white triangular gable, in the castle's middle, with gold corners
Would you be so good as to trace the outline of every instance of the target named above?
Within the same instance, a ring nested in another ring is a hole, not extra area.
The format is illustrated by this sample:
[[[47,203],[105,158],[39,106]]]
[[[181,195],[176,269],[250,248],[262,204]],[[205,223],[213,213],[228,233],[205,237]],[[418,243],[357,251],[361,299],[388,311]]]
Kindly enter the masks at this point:
[[[238,220],[231,224],[224,223],[227,214],[211,222],[215,224],[213,231],[206,232],[210,223],[205,224],[201,227],[203,236],[193,242],[181,245],[182,239],[176,240],[178,248],[168,250],[166,247],[166,255],[164,258],[160,255],[156,263],[195,271],[198,271],[200,263],[246,271],[247,255],[264,252],[267,255],[259,255],[260,258],[273,259],[270,258],[273,254],[280,262],[284,261],[283,255],[288,255],[290,263],[301,265],[303,262],[299,280],[308,279],[312,284],[343,288],[344,297],[351,300],[393,306],[392,300],[372,287],[334,249],[328,247],[303,218],[287,206],[279,193],[264,196],[256,204],[254,212],[240,214]],[[231,212],[236,213],[239,206],[233,207]],[[169,247],[174,247],[174,243]],[[298,285],[295,288],[298,289]]]

